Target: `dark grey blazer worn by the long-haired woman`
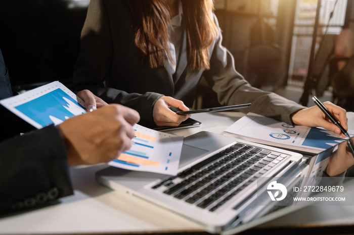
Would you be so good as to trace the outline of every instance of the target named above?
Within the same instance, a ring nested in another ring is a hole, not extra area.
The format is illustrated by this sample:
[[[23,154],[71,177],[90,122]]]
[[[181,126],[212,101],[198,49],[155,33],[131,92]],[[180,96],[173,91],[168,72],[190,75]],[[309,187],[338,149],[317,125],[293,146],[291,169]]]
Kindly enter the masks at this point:
[[[141,65],[134,44],[136,1],[92,0],[81,32],[81,49],[73,75],[73,89],[90,89],[108,103],[136,109],[142,125],[153,125],[152,107],[162,96],[193,105],[202,76],[222,105],[252,103],[242,112],[254,112],[291,123],[290,114],[304,107],[275,93],[251,87],[235,70],[234,58],[222,45],[222,33],[209,46],[210,70],[191,71],[187,66],[186,31],[172,75],[169,65],[152,69]],[[215,23],[218,26],[216,17]],[[166,62],[168,64],[168,61]],[[105,85],[104,85],[105,84]]]

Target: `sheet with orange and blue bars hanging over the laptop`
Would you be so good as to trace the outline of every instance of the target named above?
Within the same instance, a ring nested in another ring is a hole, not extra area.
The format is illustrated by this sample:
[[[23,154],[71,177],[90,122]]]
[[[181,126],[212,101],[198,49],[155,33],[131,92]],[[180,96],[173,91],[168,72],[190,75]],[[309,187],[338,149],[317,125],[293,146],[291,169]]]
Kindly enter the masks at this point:
[[[183,136],[152,130],[139,124],[134,125],[134,130],[131,148],[108,164],[128,170],[176,174]]]

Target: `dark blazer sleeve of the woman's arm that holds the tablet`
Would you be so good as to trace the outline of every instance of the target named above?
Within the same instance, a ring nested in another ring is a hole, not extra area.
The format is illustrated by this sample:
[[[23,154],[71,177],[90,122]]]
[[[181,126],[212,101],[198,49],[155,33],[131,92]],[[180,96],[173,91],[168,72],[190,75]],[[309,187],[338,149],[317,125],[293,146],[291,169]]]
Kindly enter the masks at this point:
[[[126,9],[127,11],[128,8]],[[114,61],[114,50],[124,48],[112,41],[111,23],[105,1],[92,0],[81,31],[80,53],[73,74],[73,90],[89,89],[107,103],[121,104],[137,110],[146,123],[154,123],[152,107],[162,95],[155,92],[128,93],[107,87],[107,80]],[[115,48],[113,48],[115,45]],[[122,52],[121,52],[122,53]],[[121,79],[114,77],[110,79]]]

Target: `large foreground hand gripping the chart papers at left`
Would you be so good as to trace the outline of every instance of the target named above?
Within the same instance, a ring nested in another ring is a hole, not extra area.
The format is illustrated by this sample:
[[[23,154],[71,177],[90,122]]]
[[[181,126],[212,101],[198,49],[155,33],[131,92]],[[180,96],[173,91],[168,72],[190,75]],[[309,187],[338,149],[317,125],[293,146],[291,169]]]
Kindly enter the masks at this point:
[[[139,119],[135,110],[109,105],[58,125],[69,166],[109,162],[130,149],[134,137],[132,125]]]

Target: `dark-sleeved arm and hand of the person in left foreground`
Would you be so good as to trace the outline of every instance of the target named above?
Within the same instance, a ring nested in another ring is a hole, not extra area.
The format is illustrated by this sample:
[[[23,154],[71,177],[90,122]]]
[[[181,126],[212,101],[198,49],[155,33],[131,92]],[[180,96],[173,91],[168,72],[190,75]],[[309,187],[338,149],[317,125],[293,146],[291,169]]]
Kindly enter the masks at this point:
[[[135,110],[108,105],[0,143],[0,214],[73,194],[68,166],[113,160],[138,121]]]

